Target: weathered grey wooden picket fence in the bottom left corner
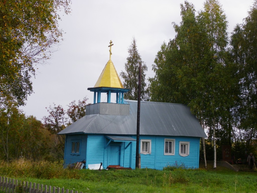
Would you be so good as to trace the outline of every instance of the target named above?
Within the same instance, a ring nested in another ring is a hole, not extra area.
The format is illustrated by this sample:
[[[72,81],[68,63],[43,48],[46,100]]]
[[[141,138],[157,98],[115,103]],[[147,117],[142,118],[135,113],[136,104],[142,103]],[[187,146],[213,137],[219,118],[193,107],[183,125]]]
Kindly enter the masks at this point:
[[[69,193],[69,189],[53,186],[25,182],[12,178],[0,177],[0,191],[5,193]],[[70,190],[70,193],[78,193],[78,191]],[[82,192],[80,192],[82,193]]]

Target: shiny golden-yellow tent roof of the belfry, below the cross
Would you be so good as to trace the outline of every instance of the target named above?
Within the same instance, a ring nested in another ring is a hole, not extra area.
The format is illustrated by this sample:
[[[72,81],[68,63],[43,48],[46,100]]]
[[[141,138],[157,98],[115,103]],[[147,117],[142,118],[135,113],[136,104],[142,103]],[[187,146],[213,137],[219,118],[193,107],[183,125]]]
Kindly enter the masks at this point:
[[[111,59],[106,63],[94,87],[124,88]]]

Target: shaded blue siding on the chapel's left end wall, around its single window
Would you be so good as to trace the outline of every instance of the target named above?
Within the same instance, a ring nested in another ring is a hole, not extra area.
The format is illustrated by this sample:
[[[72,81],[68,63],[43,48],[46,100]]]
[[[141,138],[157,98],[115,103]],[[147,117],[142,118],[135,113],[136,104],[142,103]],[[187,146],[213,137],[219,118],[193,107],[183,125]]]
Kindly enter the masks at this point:
[[[80,142],[80,153],[71,153],[72,142]],[[87,135],[66,135],[64,166],[86,160]]]

